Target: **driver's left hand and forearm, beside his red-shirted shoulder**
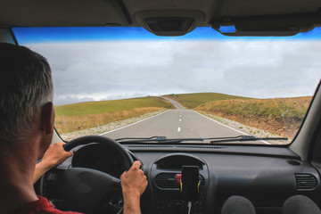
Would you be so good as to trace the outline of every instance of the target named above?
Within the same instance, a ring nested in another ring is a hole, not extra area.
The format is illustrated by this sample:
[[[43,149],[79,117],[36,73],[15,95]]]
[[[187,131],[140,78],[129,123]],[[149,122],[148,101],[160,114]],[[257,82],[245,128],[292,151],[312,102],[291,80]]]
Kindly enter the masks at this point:
[[[63,149],[64,144],[65,143],[51,144],[47,149],[47,151],[45,151],[42,161],[36,165],[34,178],[33,178],[34,183],[36,183],[37,179],[42,175],[44,175],[46,171],[61,164],[63,161],[66,161],[66,159],[72,156],[71,151],[66,152]]]

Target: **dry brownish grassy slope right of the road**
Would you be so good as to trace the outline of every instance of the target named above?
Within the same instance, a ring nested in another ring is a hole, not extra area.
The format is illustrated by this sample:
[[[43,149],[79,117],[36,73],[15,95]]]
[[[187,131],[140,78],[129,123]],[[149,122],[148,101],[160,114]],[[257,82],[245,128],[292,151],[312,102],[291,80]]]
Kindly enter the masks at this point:
[[[203,103],[194,109],[292,138],[300,128],[311,99],[308,96],[226,100]]]

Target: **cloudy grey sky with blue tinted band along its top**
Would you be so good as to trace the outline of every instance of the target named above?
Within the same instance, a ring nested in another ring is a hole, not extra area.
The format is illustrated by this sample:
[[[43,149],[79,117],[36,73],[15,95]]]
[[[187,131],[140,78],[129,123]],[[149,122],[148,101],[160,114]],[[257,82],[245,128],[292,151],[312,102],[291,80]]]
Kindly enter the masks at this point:
[[[13,29],[47,58],[54,104],[216,92],[255,98],[313,95],[321,78],[321,30],[296,37],[185,37],[144,29]]]

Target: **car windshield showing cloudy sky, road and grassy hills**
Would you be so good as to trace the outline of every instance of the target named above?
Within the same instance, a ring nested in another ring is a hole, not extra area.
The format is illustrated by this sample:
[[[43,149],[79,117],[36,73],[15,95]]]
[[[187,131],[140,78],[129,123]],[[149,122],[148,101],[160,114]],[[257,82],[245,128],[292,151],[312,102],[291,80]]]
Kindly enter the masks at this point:
[[[295,37],[224,37],[210,28],[184,37],[111,27],[13,32],[52,67],[55,128],[66,141],[257,136],[289,140],[256,144],[289,144],[320,81],[320,28]]]

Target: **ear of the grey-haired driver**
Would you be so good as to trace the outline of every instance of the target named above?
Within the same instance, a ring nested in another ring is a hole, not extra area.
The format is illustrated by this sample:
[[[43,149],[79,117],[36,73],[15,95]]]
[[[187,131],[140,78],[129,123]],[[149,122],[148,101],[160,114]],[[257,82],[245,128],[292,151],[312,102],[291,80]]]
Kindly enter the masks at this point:
[[[45,131],[46,135],[51,135],[53,133],[54,124],[54,110],[53,103],[45,103],[41,111],[41,129]]]

